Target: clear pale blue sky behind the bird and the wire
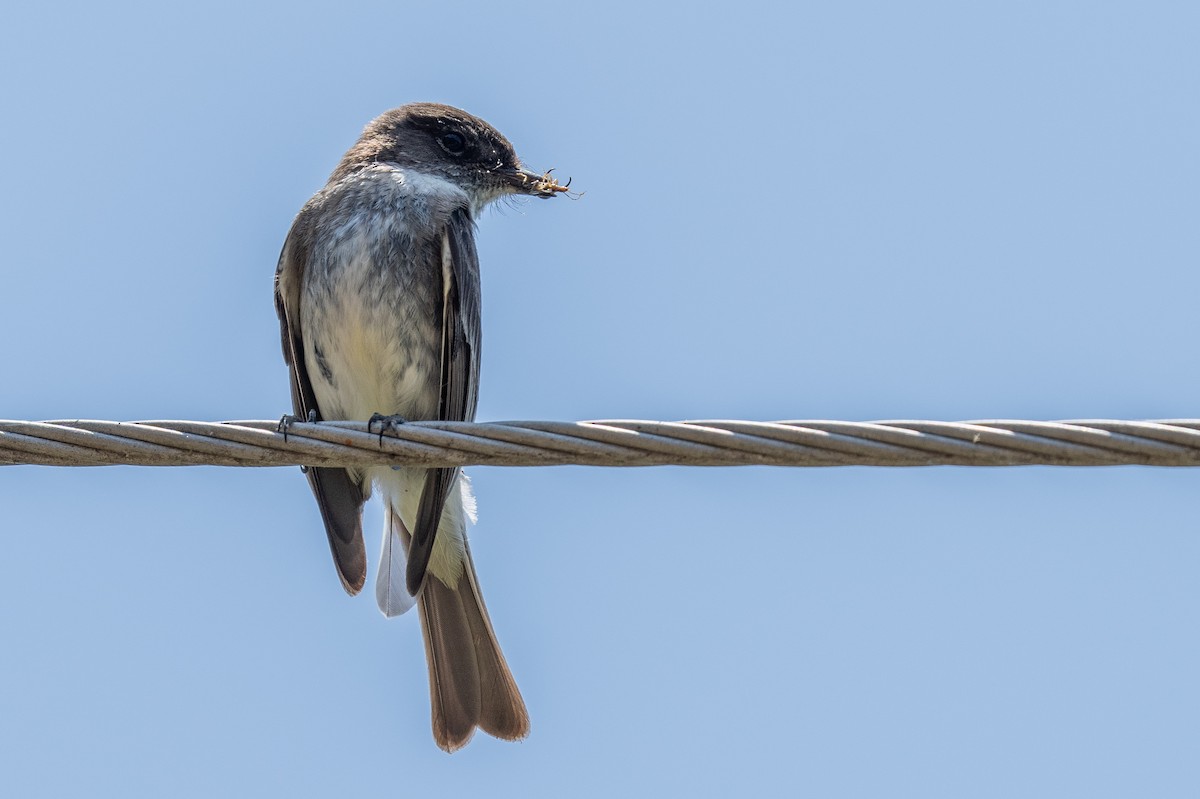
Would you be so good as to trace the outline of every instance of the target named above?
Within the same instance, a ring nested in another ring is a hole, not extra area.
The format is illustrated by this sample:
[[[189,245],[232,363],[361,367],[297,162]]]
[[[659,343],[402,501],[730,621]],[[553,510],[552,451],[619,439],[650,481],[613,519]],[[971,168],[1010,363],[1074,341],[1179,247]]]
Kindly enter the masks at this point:
[[[481,419],[1194,417],[1198,36],[1153,1],[14,6],[0,416],[278,417],[292,217],[432,100],[586,192],[480,222]],[[298,469],[0,471],[0,791],[1200,786],[1195,470],[473,475],[533,734],[446,756],[415,618],[344,596]]]

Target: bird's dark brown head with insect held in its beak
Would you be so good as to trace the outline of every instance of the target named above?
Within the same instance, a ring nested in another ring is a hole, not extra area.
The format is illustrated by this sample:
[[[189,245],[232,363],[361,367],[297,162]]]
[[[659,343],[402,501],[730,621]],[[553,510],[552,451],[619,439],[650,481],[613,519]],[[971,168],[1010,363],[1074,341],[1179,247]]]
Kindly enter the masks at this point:
[[[548,174],[522,167],[512,145],[494,127],[438,103],[402,106],[371,120],[330,180],[372,163],[395,163],[444,178],[480,206],[505,194],[553,197],[566,191]]]

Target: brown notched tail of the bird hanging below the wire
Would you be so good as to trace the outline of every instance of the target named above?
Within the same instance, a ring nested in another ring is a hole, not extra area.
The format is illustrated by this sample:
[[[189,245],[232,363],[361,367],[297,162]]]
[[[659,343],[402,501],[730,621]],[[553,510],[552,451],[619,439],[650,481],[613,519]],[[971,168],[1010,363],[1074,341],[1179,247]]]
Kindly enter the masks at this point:
[[[467,549],[457,588],[436,576],[416,600],[430,665],[433,740],[448,752],[479,727],[504,740],[529,734],[529,714],[492,631]]]

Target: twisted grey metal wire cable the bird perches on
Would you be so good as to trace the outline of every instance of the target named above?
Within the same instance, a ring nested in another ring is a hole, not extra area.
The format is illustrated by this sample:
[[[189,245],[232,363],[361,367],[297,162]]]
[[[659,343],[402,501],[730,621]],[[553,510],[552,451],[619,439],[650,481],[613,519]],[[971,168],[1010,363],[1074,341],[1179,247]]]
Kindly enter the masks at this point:
[[[1200,465],[1200,420],[0,421],[0,465]]]

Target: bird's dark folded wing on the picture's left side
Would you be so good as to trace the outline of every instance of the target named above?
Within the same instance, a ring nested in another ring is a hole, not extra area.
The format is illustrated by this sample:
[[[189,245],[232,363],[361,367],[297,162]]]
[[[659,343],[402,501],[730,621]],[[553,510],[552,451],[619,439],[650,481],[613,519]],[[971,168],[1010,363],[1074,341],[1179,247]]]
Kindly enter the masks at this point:
[[[280,314],[283,360],[292,372],[292,407],[300,421],[322,419],[308,380],[300,329],[300,293],[308,263],[311,217],[307,209],[293,222],[275,270],[275,310]],[[358,594],[367,578],[367,554],[362,545],[362,486],[346,469],[311,467],[308,485],[325,522],[329,548],[337,576],[349,594]]]

